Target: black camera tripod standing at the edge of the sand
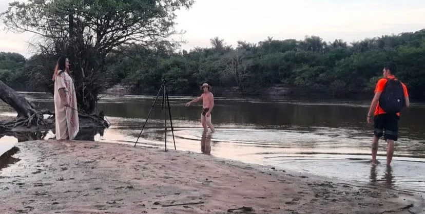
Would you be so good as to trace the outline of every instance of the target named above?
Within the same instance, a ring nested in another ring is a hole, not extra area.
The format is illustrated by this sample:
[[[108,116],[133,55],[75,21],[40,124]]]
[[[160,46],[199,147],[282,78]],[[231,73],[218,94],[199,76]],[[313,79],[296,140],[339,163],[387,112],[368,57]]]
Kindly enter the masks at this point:
[[[158,91],[158,95],[155,98],[155,100],[153,101],[152,107],[150,108],[149,114],[145,120],[145,124],[143,124],[142,130],[140,131],[139,137],[136,140],[136,143],[134,143],[134,146],[136,146],[137,142],[139,141],[140,136],[142,135],[143,129],[145,129],[145,125],[149,119],[150,114],[152,113],[152,110],[154,108],[154,106],[157,103],[158,97],[161,94],[161,90],[164,90],[164,93],[162,95],[162,105],[161,105],[161,109],[164,110],[164,127],[165,127],[165,151],[167,151],[167,109],[168,109],[168,115],[170,117],[170,125],[171,125],[171,133],[172,133],[172,141],[174,142],[174,149],[176,149],[176,141],[174,139],[174,129],[172,127],[172,120],[171,120],[171,108],[170,108],[170,101],[168,99],[168,91],[167,91],[167,84],[166,84],[166,80],[163,79],[162,83],[161,83],[161,88]],[[165,100],[167,99],[167,100]],[[165,101],[167,103],[165,103]],[[167,105],[167,106],[164,106]]]

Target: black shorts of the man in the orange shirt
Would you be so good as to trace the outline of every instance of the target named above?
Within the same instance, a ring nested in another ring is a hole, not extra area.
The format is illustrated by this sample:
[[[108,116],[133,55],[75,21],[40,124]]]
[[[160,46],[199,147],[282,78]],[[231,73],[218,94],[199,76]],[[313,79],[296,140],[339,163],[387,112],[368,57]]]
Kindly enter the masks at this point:
[[[373,118],[373,134],[380,138],[384,136],[384,140],[398,139],[398,120],[396,114],[379,114]]]

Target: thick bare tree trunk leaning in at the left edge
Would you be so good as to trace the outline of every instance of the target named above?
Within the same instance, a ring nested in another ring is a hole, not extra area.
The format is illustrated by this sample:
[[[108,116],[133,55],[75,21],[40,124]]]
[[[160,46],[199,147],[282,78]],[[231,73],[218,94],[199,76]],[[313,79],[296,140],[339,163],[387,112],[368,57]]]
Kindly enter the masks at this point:
[[[28,101],[21,94],[18,94],[2,80],[0,80],[0,99],[12,106],[17,112],[17,117],[29,118],[31,115],[37,113],[35,105],[32,102]]]

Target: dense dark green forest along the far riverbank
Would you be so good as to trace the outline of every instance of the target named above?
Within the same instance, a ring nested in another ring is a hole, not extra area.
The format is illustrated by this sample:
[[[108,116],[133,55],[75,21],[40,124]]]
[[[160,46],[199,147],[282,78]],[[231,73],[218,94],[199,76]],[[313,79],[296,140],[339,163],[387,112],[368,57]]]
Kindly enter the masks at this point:
[[[122,84],[133,93],[154,94],[165,78],[169,93],[176,95],[198,94],[199,85],[208,82],[217,91],[236,90],[242,95],[257,95],[279,86],[294,93],[338,97],[373,92],[384,62],[392,60],[398,65],[396,76],[408,86],[410,96],[424,97],[425,29],[350,44],[341,39],[326,42],[318,36],[304,40],[269,37],[258,44],[238,41],[237,47],[218,37],[210,42],[209,48],[180,52],[169,47],[122,46],[125,52],[111,52],[106,57],[102,90]],[[51,84],[55,62],[45,71],[37,69],[42,60],[42,55],[25,59],[2,52],[0,80],[17,90],[44,90]]]

